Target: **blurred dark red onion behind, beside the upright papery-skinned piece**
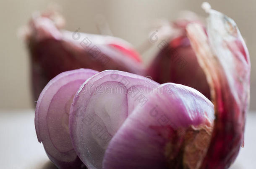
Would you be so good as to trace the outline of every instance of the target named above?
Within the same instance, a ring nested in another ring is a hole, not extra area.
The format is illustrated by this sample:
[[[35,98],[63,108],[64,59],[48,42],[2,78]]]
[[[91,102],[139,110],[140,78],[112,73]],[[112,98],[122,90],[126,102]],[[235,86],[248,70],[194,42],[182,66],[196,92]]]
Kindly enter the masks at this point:
[[[170,38],[160,42],[164,46],[159,47],[159,52],[147,68],[147,75],[152,76],[154,81],[161,84],[172,82],[190,86],[210,99],[206,76],[199,66],[196,54],[185,33],[185,28],[189,23],[201,24],[196,14],[193,14],[195,15],[193,18],[189,18],[192,14],[185,13],[185,18],[170,23],[173,29],[169,35]]]

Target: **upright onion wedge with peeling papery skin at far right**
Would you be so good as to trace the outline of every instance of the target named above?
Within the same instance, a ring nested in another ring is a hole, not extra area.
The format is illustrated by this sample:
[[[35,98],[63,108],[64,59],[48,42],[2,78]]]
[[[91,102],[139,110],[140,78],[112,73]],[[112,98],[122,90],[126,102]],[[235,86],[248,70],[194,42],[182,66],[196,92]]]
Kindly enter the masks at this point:
[[[216,10],[207,8],[206,12],[209,13],[208,37],[200,25],[191,24],[187,28],[199,64],[207,76],[216,116],[201,169],[226,169],[243,146],[251,63],[235,22]]]

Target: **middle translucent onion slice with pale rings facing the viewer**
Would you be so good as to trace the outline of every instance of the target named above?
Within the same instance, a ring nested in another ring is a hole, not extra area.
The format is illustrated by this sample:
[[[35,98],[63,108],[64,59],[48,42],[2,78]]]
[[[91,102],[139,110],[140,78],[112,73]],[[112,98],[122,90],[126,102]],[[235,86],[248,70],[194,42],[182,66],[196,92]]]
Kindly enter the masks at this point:
[[[71,106],[69,127],[74,148],[89,169],[102,168],[112,136],[158,85],[149,78],[114,70],[98,73],[83,84]]]

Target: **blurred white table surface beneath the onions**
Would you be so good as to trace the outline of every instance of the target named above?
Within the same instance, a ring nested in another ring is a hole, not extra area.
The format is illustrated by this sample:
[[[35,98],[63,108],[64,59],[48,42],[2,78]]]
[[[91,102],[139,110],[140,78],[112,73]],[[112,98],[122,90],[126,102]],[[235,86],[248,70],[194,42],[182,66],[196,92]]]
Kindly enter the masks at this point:
[[[248,114],[245,148],[230,169],[256,169],[256,112]],[[0,168],[56,169],[34,129],[34,111],[0,111]]]

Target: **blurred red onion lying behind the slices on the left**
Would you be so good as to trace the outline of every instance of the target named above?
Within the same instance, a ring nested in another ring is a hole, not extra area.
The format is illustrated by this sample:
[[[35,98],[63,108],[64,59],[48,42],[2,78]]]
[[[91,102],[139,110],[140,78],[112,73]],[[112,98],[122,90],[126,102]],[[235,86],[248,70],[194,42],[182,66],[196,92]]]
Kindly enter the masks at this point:
[[[141,58],[131,44],[111,36],[62,30],[63,24],[58,22],[60,18],[54,11],[35,15],[24,35],[31,55],[35,101],[48,81],[64,71],[78,68],[97,71],[115,69],[144,75]],[[89,47],[86,46],[87,40],[91,41]],[[100,53],[93,53],[92,50],[99,50]]]

